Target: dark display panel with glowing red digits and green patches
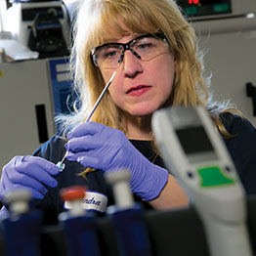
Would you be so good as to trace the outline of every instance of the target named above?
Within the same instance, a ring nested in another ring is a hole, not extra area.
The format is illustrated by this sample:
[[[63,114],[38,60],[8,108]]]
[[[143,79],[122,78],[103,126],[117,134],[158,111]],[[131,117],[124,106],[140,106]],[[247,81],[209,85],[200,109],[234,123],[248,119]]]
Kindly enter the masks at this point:
[[[229,14],[232,0],[177,0],[177,3],[192,17]]]

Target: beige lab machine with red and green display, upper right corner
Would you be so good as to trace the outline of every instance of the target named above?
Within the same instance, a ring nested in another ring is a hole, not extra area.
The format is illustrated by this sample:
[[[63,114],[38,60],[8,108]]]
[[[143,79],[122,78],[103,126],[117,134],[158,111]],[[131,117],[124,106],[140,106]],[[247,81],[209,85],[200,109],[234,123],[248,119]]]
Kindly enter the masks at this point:
[[[177,0],[198,35],[255,29],[254,0]]]

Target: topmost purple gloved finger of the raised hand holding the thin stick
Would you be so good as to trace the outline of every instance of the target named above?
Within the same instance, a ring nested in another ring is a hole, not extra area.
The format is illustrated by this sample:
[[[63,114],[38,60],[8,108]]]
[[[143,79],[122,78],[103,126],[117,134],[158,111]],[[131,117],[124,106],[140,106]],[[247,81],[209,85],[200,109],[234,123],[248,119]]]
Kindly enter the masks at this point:
[[[96,122],[86,122],[82,123],[76,128],[74,128],[71,132],[69,132],[66,136],[67,140],[70,140],[75,137],[81,137],[85,135],[95,135],[97,133],[101,133],[104,129],[103,124],[96,123]]]

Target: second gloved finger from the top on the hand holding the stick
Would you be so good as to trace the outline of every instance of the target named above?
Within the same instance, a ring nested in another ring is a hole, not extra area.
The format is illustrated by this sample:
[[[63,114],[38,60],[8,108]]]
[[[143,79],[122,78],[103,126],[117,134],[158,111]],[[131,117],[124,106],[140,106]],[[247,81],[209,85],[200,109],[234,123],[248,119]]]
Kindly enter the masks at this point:
[[[94,136],[88,135],[71,139],[65,144],[65,149],[72,152],[100,149],[103,146],[103,143],[103,141]]]

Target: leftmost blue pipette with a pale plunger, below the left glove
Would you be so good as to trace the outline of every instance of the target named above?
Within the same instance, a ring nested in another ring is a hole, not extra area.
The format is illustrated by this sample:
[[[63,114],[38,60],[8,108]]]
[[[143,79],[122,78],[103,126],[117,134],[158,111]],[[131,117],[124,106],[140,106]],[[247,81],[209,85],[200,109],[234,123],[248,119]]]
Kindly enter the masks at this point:
[[[17,190],[6,194],[9,216],[2,221],[7,256],[39,256],[42,213],[30,210],[31,193]]]

